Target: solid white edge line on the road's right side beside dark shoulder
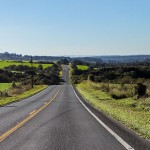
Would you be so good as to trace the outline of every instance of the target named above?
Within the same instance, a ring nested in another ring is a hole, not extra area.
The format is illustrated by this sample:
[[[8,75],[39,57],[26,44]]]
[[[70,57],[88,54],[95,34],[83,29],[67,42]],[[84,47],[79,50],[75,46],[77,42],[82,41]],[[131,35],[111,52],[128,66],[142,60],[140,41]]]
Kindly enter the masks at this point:
[[[72,86],[72,85],[71,85]],[[126,143],[120,136],[118,136],[114,131],[112,131],[105,123],[103,123],[89,108],[85,106],[85,104],[81,101],[81,99],[78,97],[77,93],[75,92],[73,86],[72,86],[73,92],[80,101],[80,103],[84,106],[84,108],[118,141],[120,142],[127,150],[135,150],[133,147],[131,147],[128,143]]]

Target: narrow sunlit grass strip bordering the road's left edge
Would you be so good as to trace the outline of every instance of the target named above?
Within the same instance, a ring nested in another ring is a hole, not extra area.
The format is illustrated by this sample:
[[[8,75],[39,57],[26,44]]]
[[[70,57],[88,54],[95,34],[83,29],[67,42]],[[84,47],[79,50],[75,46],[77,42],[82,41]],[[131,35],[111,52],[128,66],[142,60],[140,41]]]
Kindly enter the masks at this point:
[[[20,95],[16,95],[13,97],[4,97],[3,99],[0,99],[0,106],[15,102],[15,101],[19,101],[21,99],[27,98],[29,96],[32,96],[42,90],[44,90],[47,87],[47,85],[37,85],[34,86],[33,89],[30,89],[29,91],[26,91]]]

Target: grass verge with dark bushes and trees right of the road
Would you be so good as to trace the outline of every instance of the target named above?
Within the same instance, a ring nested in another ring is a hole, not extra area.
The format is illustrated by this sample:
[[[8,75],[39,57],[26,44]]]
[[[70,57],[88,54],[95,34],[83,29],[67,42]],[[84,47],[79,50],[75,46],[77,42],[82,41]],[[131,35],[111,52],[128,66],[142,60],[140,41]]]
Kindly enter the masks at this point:
[[[149,63],[77,65],[71,64],[71,81],[85,100],[150,139]]]

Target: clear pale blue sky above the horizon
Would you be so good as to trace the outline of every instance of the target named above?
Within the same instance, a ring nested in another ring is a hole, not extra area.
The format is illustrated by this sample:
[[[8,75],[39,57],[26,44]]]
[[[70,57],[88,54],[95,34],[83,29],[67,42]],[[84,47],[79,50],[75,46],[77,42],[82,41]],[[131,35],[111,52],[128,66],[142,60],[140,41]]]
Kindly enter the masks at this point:
[[[150,54],[149,0],[0,0],[0,52]]]

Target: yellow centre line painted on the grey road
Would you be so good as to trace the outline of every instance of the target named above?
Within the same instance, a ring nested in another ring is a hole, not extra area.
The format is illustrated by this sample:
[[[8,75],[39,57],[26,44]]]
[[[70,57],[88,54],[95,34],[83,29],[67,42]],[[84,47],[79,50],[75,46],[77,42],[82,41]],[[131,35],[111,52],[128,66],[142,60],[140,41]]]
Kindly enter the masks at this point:
[[[21,121],[20,123],[18,123],[16,126],[12,127],[8,131],[6,131],[2,135],[0,135],[0,142],[2,142],[3,140],[5,140],[9,135],[11,135],[13,132],[15,132],[17,129],[19,129],[21,126],[23,126],[25,123],[27,123],[30,119],[32,119],[34,116],[36,116],[44,108],[46,108],[58,96],[58,94],[60,93],[60,90],[61,89],[59,89],[57,91],[57,93],[51,98],[50,101],[44,103],[44,105],[42,107],[40,107],[38,110],[34,110],[33,112],[31,112],[30,115],[29,115],[29,117],[27,117],[26,119],[24,119],[23,121]]]

